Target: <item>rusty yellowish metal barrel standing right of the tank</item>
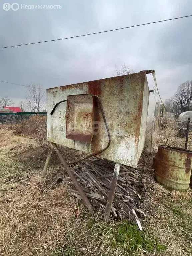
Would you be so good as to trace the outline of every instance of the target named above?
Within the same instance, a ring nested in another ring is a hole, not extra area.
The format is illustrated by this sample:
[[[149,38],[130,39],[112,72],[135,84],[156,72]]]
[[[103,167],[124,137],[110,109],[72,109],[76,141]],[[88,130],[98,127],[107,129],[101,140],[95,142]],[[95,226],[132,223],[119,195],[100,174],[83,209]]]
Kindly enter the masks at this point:
[[[153,161],[157,182],[169,190],[187,190],[191,177],[191,159],[190,150],[159,146]]]

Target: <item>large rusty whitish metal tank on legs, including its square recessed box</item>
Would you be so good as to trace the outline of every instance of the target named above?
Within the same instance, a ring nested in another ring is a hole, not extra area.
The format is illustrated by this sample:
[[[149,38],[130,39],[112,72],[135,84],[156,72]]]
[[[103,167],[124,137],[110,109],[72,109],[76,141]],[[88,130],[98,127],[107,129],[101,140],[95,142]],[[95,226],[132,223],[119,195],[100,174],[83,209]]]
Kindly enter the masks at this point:
[[[137,167],[147,125],[146,71],[47,89],[47,141]],[[51,114],[57,102],[62,102]]]

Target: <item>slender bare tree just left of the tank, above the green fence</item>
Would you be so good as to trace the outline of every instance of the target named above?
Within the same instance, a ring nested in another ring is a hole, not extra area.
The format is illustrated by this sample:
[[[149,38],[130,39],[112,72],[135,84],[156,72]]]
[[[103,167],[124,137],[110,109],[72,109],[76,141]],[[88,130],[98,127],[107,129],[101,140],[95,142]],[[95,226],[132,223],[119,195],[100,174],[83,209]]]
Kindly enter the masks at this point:
[[[31,83],[25,92],[25,100],[27,108],[38,113],[45,108],[45,90],[40,84]]]

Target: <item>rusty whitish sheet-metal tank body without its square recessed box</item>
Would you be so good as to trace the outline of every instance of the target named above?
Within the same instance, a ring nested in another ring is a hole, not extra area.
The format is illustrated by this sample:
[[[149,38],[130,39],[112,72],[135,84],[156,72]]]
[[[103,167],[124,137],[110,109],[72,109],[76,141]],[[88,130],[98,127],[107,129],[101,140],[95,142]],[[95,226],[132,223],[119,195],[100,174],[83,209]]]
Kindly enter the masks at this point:
[[[145,139],[149,101],[145,73],[47,89],[47,140],[95,153],[108,144],[108,134],[97,102],[95,122],[98,130],[95,129],[91,144],[66,138],[66,102],[58,105],[54,114],[49,115],[57,102],[76,94],[94,94],[100,97],[111,134],[111,145],[100,157],[136,167]]]

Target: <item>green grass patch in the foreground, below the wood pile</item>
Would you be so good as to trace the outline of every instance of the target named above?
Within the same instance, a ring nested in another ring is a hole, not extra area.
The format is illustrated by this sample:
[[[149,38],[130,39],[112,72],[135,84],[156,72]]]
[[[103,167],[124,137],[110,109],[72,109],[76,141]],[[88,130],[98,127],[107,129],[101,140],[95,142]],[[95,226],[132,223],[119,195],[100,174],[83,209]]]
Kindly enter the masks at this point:
[[[102,246],[110,248],[111,252],[120,250],[121,255],[139,255],[141,251],[161,253],[166,250],[166,246],[159,243],[156,237],[149,237],[145,231],[140,231],[134,222],[118,221],[109,224],[90,218],[87,230],[87,237],[92,237],[95,245],[102,240]]]

